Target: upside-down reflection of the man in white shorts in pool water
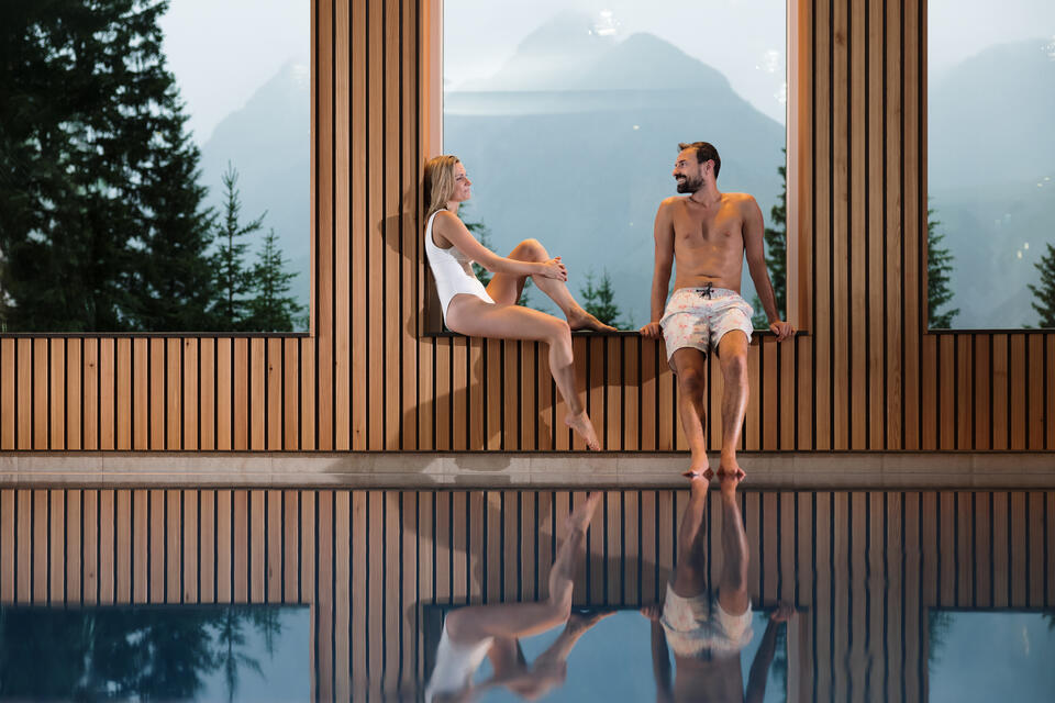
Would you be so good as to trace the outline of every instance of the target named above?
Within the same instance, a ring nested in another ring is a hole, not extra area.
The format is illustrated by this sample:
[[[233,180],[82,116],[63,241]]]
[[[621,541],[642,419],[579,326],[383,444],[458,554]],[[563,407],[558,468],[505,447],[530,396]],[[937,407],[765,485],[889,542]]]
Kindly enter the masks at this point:
[[[736,486],[744,475],[719,475],[723,563],[717,594],[708,588],[703,549],[703,511],[712,476],[708,470],[692,477],[689,505],[678,532],[678,561],[667,584],[666,600],[662,609],[653,605],[642,611],[652,621],[656,700],[760,703],[776,649],[777,625],[786,622],[792,610],[781,605],[770,617],[751,667],[745,695],[740,650],[751,641],[751,595],[747,536],[736,502]],[[667,647],[674,651],[673,685]]]

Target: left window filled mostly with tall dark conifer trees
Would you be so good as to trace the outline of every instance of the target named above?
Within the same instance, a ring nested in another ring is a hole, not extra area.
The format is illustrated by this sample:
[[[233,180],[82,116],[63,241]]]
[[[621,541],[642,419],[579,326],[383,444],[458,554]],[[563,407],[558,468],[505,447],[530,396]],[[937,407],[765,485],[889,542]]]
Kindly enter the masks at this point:
[[[306,330],[309,3],[13,4],[0,332]]]

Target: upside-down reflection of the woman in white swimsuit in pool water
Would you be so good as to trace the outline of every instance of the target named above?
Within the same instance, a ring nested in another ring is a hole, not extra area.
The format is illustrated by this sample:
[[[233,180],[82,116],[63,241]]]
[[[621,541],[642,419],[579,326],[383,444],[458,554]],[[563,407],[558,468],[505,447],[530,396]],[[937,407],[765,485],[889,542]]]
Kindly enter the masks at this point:
[[[540,603],[469,605],[447,614],[436,650],[436,665],[425,689],[425,703],[470,701],[481,691],[503,687],[536,699],[564,683],[566,659],[579,637],[606,614],[571,614],[576,559],[582,551],[590,517],[601,499],[591,493],[568,516],[568,535],[549,570],[549,598]],[[520,638],[567,623],[556,641],[532,665],[524,660]],[[490,658],[495,676],[473,684],[473,673]]]

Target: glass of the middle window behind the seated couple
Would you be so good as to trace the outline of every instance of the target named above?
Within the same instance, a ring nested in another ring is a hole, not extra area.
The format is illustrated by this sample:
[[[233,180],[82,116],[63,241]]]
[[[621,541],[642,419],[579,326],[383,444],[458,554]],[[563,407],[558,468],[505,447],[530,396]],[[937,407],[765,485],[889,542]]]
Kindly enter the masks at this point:
[[[702,140],[721,154],[719,189],[762,207],[784,299],[785,0],[443,9],[443,150],[466,165],[463,219],[491,248],[536,237],[580,298],[607,276],[613,322],[644,324],[656,209],[676,192],[678,142]],[[755,298],[746,265],[742,292]]]

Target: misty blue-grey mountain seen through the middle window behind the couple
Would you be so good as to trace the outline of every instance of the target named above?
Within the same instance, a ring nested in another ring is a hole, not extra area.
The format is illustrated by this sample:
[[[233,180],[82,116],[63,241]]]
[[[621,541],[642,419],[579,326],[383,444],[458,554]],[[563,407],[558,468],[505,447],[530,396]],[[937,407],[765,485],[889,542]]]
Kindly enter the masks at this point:
[[[649,34],[615,42],[590,30],[584,16],[558,15],[490,78],[447,91],[444,150],[474,181],[465,216],[490,227],[500,253],[538,238],[564,257],[575,292],[587,272],[607,269],[617,304],[641,325],[649,316],[653,221],[659,201],[675,194],[678,142],[713,143],[719,188],[754,194],[768,220],[785,127],[671,44]],[[743,292],[751,300],[753,289]]]

